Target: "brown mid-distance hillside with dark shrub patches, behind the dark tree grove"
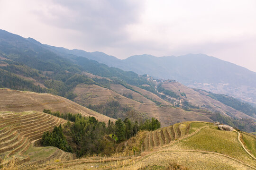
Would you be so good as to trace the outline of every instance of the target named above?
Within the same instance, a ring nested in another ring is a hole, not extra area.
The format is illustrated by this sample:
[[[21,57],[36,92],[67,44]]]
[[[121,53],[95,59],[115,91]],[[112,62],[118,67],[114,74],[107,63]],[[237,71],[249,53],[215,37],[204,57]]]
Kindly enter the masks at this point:
[[[123,92],[129,91],[129,89],[124,86],[111,86],[121,87],[119,89],[123,89]],[[115,90],[121,93],[122,90],[119,89],[115,88]],[[74,93],[77,94],[77,97],[74,99],[75,102],[114,118],[125,119],[128,117],[130,119],[146,119],[154,117],[158,119],[164,127],[185,120],[212,121],[206,116],[208,113],[185,111],[168,105],[159,106],[155,102],[138,102],[98,85],[78,85],[75,88]],[[133,95],[135,94],[140,97],[141,100],[149,100],[139,93],[134,92]],[[108,104],[112,103],[112,101],[115,101],[117,106],[120,105],[120,107],[115,107],[116,110],[114,110],[113,107]]]

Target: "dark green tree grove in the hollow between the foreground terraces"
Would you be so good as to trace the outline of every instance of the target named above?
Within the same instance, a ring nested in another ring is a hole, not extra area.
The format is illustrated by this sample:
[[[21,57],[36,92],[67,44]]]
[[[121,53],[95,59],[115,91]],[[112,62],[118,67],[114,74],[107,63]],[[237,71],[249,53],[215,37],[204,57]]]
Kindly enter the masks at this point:
[[[133,122],[128,118],[124,120],[118,119],[115,123],[109,120],[106,127],[104,122],[100,122],[94,117],[85,118],[81,114],[71,113],[60,114],[58,111],[52,112],[51,110],[44,110],[44,112],[69,120],[64,125],[63,134],[66,136],[67,143],[71,146],[73,153],[76,153],[77,157],[95,153],[113,153],[117,144],[132,136],[136,136],[139,130],[155,130],[161,127],[160,122],[154,118],[146,119],[144,122]],[[42,144],[53,144],[53,146],[59,148],[64,145],[69,148],[69,145],[62,144],[59,146],[55,144],[55,141],[49,142],[49,138],[51,139],[53,135],[49,132],[46,132],[46,134],[44,135],[48,137],[42,139]],[[61,140],[58,141],[64,143],[62,133],[58,132],[55,134],[60,134],[58,138]]]

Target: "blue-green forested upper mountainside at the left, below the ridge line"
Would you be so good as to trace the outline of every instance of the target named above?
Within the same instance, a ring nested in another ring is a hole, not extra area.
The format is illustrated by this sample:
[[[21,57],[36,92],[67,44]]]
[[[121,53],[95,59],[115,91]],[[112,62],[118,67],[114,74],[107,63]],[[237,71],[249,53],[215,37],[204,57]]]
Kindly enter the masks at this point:
[[[96,84],[110,88],[109,80],[91,79],[83,75],[83,72],[117,79],[124,84],[148,84],[144,77],[134,72],[111,68],[84,57],[64,58],[61,53],[53,52],[33,39],[25,39],[7,32],[1,34],[5,34],[5,37],[0,43],[0,55],[6,58],[4,62],[8,65],[0,68],[12,75],[0,74],[0,88],[47,92],[73,100],[76,97],[73,88],[78,84]],[[37,87],[34,82],[24,78],[17,78],[15,74],[31,77],[45,85],[47,89]]]

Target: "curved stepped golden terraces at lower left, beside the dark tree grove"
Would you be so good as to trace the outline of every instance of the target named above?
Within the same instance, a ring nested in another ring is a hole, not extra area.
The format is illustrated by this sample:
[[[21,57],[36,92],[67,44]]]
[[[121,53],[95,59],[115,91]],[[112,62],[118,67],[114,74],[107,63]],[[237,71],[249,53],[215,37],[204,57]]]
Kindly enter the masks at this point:
[[[44,162],[52,158],[65,161],[73,159],[71,153],[55,147],[33,146],[44,132],[52,131],[55,126],[65,122],[64,119],[37,111],[0,112],[0,159],[4,162],[16,159],[19,163]]]

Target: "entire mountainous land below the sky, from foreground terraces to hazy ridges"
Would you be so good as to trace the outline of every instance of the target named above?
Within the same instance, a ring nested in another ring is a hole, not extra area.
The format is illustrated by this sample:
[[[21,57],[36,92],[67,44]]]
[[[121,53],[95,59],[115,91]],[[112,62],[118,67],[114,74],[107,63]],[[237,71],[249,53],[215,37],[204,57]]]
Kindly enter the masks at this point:
[[[203,54],[121,60],[0,30],[0,167],[255,169],[256,107],[239,89],[253,96],[254,76]],[[240,99],[202,90],[215,84]]]

